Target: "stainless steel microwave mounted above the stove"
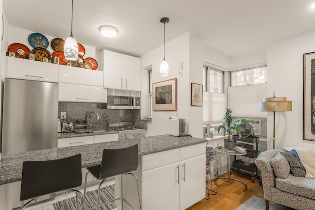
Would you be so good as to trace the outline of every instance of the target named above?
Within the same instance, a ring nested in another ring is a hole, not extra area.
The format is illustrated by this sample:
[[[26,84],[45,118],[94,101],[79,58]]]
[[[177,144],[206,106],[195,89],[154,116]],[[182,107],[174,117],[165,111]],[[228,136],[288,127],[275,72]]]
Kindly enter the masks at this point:
[[[107,109],[140,109],[140,91],[107,89]]]

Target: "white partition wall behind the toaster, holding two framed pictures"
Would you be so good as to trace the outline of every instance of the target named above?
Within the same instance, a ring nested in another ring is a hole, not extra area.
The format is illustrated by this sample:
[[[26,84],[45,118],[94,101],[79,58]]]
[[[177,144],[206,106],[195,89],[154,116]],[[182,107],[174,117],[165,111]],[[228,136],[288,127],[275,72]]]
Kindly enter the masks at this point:
[[[163,59],[163,46],[141,57],[141,93],[147,94],[147,69],[152,67],[152,82],[177,78],[177,111],[153,111],[152,122],[148,122],[147,136],[169,133],[169,117],[185,118],[189,134],[202,138],[202,108],[190,107],[190,83],[202,84],[202,41],[187,32],[165,44],[165,59],[169,65],[169,75],[159,74]],[[191,57],[189,56],[189,54]],[[183,62],[183,77],[178,74],[179,63]],[[193,73],[191,73],[192,71]],[[189,78],[191,77],[191,78]],[[147,101],[141,101],[141,117],[147,115]],[[145,107],[145,108],[144,108]],[[190,114],[194,112],[195,115]],[[200,121],[200,122],[199,122]],[[192,122],[192,123],[191,123]],[[200,128],[198,128],[200,126]],[[191,127],[191,128],[190,128]]]

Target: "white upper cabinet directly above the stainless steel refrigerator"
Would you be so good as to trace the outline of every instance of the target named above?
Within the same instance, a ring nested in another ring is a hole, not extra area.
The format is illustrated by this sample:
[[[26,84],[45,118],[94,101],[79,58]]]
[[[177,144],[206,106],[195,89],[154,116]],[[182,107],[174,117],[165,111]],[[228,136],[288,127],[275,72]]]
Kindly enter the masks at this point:
[[[6,58],[6,77],[47,82],[58,81],[58,64],[13,57]]]

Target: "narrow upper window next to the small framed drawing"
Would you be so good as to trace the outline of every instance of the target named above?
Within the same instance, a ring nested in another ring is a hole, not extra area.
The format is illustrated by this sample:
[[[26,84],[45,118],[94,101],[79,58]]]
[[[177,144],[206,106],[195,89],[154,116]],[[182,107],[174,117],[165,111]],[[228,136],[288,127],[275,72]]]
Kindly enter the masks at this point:
[[[203,66],[203,91],[223,93],[223,71]]]

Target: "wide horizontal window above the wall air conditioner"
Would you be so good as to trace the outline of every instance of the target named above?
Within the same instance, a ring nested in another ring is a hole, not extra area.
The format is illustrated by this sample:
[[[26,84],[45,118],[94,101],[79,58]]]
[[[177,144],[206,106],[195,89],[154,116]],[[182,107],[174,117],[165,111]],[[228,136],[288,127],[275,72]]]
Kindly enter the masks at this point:
[[[231,71],[231,86],[252,85],[267,82],[267,66]]]

